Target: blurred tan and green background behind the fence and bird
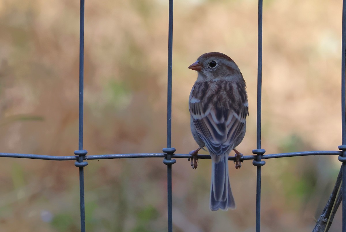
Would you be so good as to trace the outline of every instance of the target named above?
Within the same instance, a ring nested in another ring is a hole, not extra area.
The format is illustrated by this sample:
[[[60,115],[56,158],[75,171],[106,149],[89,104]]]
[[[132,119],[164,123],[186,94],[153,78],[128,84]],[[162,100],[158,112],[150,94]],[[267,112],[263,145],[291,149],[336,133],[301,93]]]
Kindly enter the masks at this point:
[[[262,148],[266,154],[341,145],[342,3],[264,0]],[[85,3],[84,149],[89,155],[166,147],[168,1]],[[175,1],[172,146],[197,148],[187,69],[218,51],[247,83],[249,117],[238,151],[256,148],[257,1]],[[0,151],[73,155],[78,149],[79,1],[0,0]],[[207,154],[201,152],[201,154]],[[234,154],[230,154],[234,155]],[[88,161],[87,231],[167,231],[162,158]],[[261,229],[311,231],[331,193],[336,156],[266,160]],[[1,158],[1,231],[79,231],[73,161]],[[173,228],[254,231],[256,168],[229,165],[237,209],[209,210],[210,160],[173,165]],[[341,209],[341,207],[340,207]],[[341,210],[330,231],[341,231]]]

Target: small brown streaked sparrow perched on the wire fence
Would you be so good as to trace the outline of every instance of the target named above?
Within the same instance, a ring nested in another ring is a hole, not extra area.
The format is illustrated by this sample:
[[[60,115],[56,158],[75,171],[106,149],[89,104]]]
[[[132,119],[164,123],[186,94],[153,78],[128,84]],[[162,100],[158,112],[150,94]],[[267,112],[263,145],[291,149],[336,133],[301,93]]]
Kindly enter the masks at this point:
[[[190,97],[190,127],[199,148],[191,151],[192,169],[197,168],[198,152],[206,147],[212,160],[209,208],[235,209],[229,174],[228,155],[233,150],[235,166],[243,156],[235,148],[246,131],[248,100],[246,83],[236,63],[220,52],[202,54],[188,67],[198,72]]]

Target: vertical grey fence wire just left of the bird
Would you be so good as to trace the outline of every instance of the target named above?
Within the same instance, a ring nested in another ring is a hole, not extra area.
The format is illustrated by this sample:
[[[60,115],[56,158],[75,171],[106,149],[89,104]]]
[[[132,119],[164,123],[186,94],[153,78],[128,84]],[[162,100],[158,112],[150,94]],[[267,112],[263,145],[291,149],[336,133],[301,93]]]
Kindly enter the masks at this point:
[[[173,0],[169,0],[168,20],[168,74],[167,74],[167,148],[172,146],[172,52],[173,52]],[[171,154],[167,154],[171,160]],[[167,165],[168,231],[173,231],[172,220],[172,165]]]

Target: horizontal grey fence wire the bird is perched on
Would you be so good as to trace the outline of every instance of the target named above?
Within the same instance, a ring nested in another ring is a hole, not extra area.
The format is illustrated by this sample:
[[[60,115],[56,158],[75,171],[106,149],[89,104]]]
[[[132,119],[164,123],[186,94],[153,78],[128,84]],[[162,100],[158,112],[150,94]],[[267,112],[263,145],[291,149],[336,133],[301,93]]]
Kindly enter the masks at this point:
[[[307,155],[342,155],[342,151],[308,151],[308,152],[290,152],[262,155],[262,159],[307,156]],[[78,156],[53,156],[53,155],[35,155],[35,154],[19,154],[19,153],[0,153],[0,157],[8,158],[28,158],[38,160],[78,160]],[[84,160],[103,160],[116,158],[164,158],[165,153],[134,153],[134,154],[107,154],[107,155],[87,155]],[[189,154],[174,154],[172,158],[190,158]],[[198,155],[200,159],[209,159],[210,155]],[[245,155],[240,160],[254,160],[256,155]],[[235,160],[234,156],[229,156],[228,160]]]

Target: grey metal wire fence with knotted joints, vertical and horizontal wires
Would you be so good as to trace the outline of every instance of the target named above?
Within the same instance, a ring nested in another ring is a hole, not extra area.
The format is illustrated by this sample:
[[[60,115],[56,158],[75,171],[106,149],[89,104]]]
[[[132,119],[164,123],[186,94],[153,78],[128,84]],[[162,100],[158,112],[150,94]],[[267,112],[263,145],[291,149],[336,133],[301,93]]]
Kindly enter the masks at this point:
[[[261,167],[265,165],[263,159],[306,156],[306,155],[338,155],[342,162],[342,198],[346,199],[346,3],[343,0],[342,13],[342,62],[341,62],[341,112],[342,112],[342,145],[338,146],[341,151],[308,151],[264,155],[265,150],[261,149],[261,94],[262,94],[262,15],[263,0],[258,0],[258,71],[257,71],[257,146],[252,150],[255,155],[247,155],[241,158],[253,160],[253,165],[257,168],[256,182],[256,232],[260,231],[261,217]],[[85,231],[85,212],[84,212],[84,167],[88,165],[85,160],[100,160],[111,158],[149,158],[162,157],[163,163],[167,165],[167,212],[168,212],[168,231],[173,231],[172,222],[172,165],[176,162],[172,158],[189,158],[189,154],[175,154],[175,148],[171,143],[171,115],[172,115],[172,42],[173,42],[173,0],[169,0],[169,35],[168,35],[168,85],[167,85],[167,146],[162,149],[163,153],[137,153],[137,154],[109,154],[109,155],[90,155],[83,150],[83,68],[84,68],[84,0],[80,1],[80,45],[79,45],[79,143],[78,151],[74,151],[74,156],[50,156],[17,153],[0,153],[0,157],[31,158],[39,160],[75,160],[75,166],[79,167],[80,184],[80,216],[81,231]],[[200,159],[210,159],[209,155],[198,155]],[[228,157],[228,160],[235,160],[235,157]],[[343,232],[346,232],[346,200],[343,200]]]

